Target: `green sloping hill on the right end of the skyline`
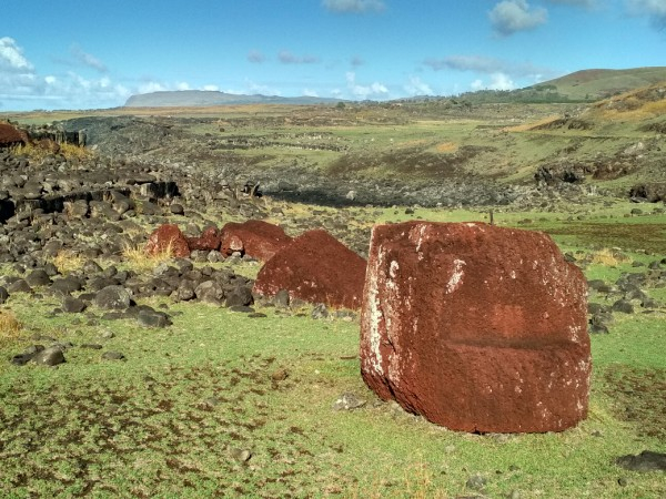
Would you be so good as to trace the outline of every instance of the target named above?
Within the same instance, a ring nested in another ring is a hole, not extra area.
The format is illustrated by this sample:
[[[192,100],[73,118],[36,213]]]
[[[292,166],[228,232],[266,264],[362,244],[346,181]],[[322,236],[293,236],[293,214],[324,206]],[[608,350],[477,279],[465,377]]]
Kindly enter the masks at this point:
[[[662,81],[666,81],[664,67],[626,70],[589,69],[523,90],[552,91],[572,101],[598,101]]]

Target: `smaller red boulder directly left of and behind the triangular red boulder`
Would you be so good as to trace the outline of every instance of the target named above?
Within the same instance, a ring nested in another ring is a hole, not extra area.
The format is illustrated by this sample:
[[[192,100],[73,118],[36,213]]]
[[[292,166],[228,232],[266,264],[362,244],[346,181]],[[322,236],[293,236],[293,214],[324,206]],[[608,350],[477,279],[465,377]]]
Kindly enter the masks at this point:
[[[265,262],[291,241],[282,227],[261,220],[229,222],[222,227],[220,251],[226,256],[241,252]]]

